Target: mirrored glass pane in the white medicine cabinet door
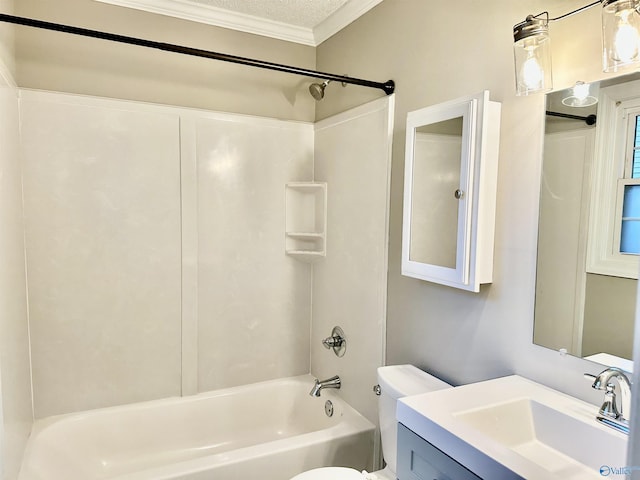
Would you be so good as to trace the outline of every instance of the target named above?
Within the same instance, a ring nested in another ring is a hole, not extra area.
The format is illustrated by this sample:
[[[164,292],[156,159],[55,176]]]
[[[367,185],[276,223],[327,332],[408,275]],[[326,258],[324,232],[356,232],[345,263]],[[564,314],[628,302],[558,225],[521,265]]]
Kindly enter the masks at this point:
[[[457,218],[460,202],[452,192],[460,185],[462,120],[457,117],[415,129],[412,261],[456,268],[458,224],[451,219]]]

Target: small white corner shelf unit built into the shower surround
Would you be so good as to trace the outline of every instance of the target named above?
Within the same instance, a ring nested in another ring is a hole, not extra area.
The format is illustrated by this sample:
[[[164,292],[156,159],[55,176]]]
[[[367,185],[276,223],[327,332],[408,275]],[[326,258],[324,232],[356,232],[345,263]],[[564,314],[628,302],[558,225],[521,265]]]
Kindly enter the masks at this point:
[[[285,185],[285,251],[303,262],[326,255],[327,184],[290,182]]]

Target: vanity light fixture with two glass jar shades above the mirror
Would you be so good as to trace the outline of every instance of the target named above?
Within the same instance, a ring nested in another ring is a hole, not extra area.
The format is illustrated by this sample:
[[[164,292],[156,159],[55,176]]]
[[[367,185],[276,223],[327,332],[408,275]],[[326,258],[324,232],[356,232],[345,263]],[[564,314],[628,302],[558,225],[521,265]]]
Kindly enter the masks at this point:
[[[602,5],[603,70],[640,66],[640,0],[598,0],[555,18],[549,18],[549,12],[528,15],[513,27],[517,95],[553,87],[549,23],[598,4]]]

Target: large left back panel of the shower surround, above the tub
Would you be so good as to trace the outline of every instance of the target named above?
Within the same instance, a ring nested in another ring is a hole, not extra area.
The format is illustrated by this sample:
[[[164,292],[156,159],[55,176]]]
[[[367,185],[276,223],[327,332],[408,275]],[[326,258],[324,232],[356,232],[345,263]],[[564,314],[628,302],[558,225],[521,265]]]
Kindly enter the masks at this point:
[[[23,92],[36,417],[180,394],[176,114]]]

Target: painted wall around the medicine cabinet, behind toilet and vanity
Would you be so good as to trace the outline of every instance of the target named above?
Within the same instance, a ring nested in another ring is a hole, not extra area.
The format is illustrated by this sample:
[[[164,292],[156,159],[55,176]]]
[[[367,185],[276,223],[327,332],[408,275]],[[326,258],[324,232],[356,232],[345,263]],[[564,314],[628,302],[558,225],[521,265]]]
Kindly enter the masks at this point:
[[[318,47],[318,69],[397,83],[393,147],[387,363],[414,363],[455,384],[519,373],[594,403],[583,380],[600,366],[532,344],[544,95],[515,96],[512,27],[530,13],[580,1],[385,0]],[[597,8],[553,25],[554,79],[603,77]],[[502,102],[493,284],[479,294],[400,275],[404,137],[408,111],[491,91]],[[317,116],[378,93],[327,89]],[[533,180],[532,180],[533,179]]]

